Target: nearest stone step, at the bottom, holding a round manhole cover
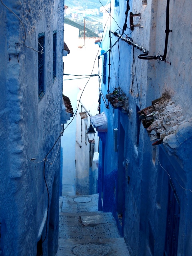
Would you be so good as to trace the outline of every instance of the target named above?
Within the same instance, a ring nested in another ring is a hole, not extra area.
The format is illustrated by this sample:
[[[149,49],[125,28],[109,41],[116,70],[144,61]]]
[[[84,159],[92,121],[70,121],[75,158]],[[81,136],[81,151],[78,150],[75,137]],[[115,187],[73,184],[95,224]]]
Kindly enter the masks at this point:
[[[56,256],[70,255],[130,256],[124,238],[59,239]]]

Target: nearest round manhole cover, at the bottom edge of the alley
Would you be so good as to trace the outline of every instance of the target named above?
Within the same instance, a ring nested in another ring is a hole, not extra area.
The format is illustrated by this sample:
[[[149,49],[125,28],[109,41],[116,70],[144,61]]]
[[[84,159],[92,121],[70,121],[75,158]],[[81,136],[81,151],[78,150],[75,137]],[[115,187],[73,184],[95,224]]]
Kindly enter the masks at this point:
[[[73,253],[77,256],[105,256],[109,249],[100,244],[82,244],[73,248]]]

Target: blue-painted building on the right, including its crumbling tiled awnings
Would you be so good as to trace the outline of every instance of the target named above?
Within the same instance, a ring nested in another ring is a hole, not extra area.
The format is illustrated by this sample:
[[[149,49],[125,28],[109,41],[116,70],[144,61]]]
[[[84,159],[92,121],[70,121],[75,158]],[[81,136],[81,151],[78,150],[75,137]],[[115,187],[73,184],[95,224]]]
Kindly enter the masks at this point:
[[[113,212],[131,256],[190,256],[191,7],[128,3],[111,2],[118,25],[104,12],[99,209]]]

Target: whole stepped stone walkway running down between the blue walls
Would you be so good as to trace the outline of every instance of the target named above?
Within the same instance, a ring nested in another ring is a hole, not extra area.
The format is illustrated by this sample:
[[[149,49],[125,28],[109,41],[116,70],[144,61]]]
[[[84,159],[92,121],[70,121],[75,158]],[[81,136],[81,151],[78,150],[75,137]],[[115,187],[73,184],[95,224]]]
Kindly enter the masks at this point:
[[[56,256],[129,256],[112,213],[97,209],[98,194],[60,197]]]

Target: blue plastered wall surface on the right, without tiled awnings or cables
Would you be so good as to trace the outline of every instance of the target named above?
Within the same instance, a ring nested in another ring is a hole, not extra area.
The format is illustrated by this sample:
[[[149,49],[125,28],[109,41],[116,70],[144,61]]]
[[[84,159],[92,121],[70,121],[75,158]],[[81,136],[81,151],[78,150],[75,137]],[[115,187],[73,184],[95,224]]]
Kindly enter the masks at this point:
[[[142,3],[143,2],[143,3]],[[149,56],[164,54],[167,1],[130,1],[130,11],[141,13],[134,17],[140,23],[131,36],[133,41],[149,50]],[[119,7],[111,4],[112,16],[122,28],[125,19],[126,1]],[[176,255],[191,255],[191,228],[189,212],[192,193],[190,174],[191,144],[191,54],[190,39],[192,23],[188,14],[188,2],[170,1],[170,29],[166,62],[140,60],[137,48],[119,41],[112,48],[110,69],[110,92],[120,86],[129,100],[129,113],[124,114],[103,102],[101,111],[108,119],[108,132],[101,136],[99,165],[99,206],[112,211],[119,229],[126,239],[130,255],[162,255],[166,241],[166,218],[170,177],[180,200],[180,225],[178,252]],[[104,14],[104,24],[108,14]],[[110,25],[111,22],[111,25]],[[129,27],[129,14],[128,14]],[[108,30],[118,29],[110,19],[106,24],[103,50],[109,48]],[[126,30],[125,34],[131,31]],[[117,40],[112,36],[112,44]],[[107,53],[109,56],[109,52]],[[113,57],[112,57],[113,56]],[[113,59],[113,60],[112,60]],[[171,62],[171,64],[170,64]],[[119,72],[118,66],[120,65]],[[108,61],[107,74],[108,78]],[[106,85],[102,91],[107,94]],[[161,145],[152,146],[150,138],[140,126],[139,109],[151,105],[151,101],[167,92],[176,106],[180,106],[184,123]],[[113,149],[113,129],[118,128],[118,151]],[[139,140],[137,144],[137,138]],[[123,138],[123,139],[122,139]],[[124,143],[123,143],[124,140]],[[122,157],[123,155],[123,157]],[[163,167],[163,168],[162,168]],[[166,173],[166,171],[170,175]],[[122,178],[123,176],[123,178]],[[103,205],[102,205],[103,197]],[[118,214],[120,213],[120,214]],[[120,216],[122,214],[122,216]]]

